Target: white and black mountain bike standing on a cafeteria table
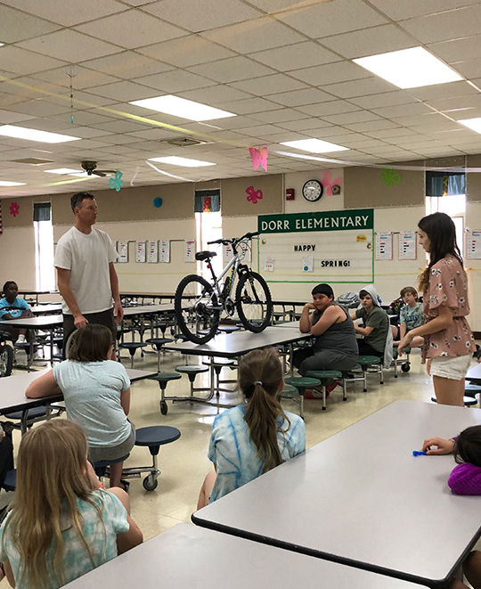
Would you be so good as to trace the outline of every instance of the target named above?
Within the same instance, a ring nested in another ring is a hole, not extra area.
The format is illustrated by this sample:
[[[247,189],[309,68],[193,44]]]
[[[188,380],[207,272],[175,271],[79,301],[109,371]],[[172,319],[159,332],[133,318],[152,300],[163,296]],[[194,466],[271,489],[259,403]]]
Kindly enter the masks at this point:
[[[259,232],[246,233],[240,238],[208,241],[208,245],[232,246],[232,259],[218,277],[211,264],[211,259],[217,255],[215,251],[199,251],[195,255],[196,260],[207,262],[212,281],[190,274],[175,290],[175,318],[187,339],[197,344],[207,343],[216,335],[223,312],[232,317],[237,310],[240,322],[249,331],[263,331],[271,323],[273,300],[267,283],[247,264],[241,264],[245,256],[241,243],[249,248],[249,241],[256,235]],[[234,292],[235,298],[232,299]]]

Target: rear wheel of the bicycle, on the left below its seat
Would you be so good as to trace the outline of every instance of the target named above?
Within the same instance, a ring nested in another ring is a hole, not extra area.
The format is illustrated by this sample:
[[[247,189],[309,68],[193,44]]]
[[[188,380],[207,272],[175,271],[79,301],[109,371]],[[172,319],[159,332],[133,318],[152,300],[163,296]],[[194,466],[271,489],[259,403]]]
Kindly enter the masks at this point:
[[[216,293],[197,274],[185,276],[175,290],[175,319],[183,335],[205,344],[216,335],[220,319]]]

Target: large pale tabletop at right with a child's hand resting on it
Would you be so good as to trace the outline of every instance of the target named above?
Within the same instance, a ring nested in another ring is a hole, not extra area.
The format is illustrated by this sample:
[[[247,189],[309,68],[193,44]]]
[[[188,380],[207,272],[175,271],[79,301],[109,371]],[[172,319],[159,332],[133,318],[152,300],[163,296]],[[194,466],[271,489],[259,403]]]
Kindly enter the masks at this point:
[[[412,451],[477,424],[480,409],[396,401],[192,520],[412,582],[443,582],[481,533],[481,497],[452,494],[451,455]]]

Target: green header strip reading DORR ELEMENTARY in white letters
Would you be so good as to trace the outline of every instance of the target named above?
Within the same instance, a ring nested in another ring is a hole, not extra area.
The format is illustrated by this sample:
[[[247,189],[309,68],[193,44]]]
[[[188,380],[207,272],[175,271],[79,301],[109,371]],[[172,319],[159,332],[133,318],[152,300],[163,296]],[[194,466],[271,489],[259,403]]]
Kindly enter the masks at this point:
[[[330,210],[257,217],[257,231],[260,233],[346,231],[373,228],[374,209]]]

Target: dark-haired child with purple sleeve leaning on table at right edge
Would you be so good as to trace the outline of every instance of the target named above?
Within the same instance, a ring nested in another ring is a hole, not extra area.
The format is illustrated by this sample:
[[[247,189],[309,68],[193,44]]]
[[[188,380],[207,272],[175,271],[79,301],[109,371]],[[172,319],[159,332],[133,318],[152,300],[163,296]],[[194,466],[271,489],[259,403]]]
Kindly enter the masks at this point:
[[[461,431],[457,438],[428,438],[422,444],[428,455],[454,454],[457,466],[452,469],[448,485],[456,495],[481,495],[481,425]],[[474,589],[481,589],[481,552],[475,550],[463,564],[463,572]],[[457,579],[450,589],[467,589]]]

